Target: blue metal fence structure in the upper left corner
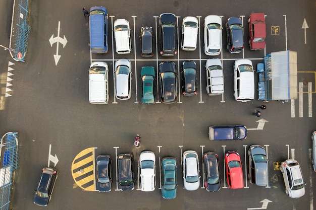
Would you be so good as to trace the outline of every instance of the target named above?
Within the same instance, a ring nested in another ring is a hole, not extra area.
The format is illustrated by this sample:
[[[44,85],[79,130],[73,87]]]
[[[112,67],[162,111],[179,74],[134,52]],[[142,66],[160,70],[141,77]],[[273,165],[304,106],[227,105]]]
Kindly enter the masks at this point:
[[[17,14],[17,27],[15,31],[15,46],[13,51],[14,59],[24,62],[26,47],[29,40],[31,27],[27,24],[28,21],[29,0],[19,0]]]

